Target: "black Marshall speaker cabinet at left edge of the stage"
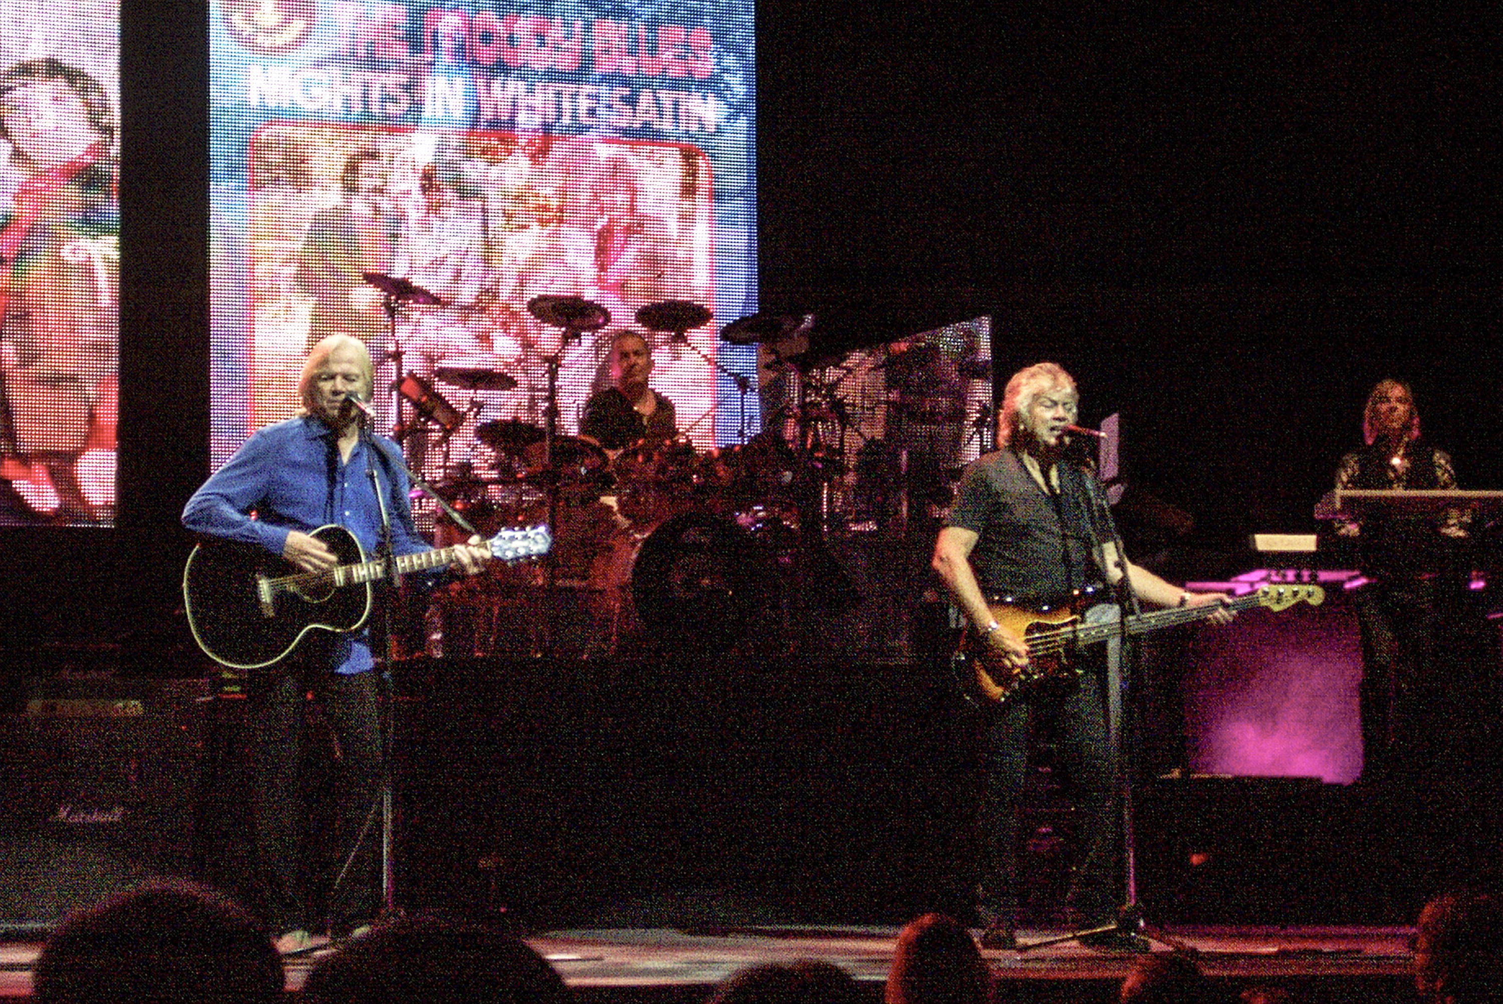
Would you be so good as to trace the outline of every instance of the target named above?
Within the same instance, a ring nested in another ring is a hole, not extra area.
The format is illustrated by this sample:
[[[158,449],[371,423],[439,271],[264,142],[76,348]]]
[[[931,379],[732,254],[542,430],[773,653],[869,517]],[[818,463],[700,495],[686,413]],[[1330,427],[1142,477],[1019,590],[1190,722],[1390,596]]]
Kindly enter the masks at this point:
[[[45,933],[80,906],[185,875],[201,681],[32,684],[0,715],[0,933]]]

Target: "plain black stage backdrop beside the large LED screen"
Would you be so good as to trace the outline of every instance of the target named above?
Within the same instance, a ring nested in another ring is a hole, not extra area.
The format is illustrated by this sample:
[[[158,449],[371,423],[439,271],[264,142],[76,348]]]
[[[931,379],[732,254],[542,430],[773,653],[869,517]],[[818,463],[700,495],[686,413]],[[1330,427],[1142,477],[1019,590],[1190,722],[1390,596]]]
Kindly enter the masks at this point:
[[[764,308],[836,344],[992,314],[998,373],[1055,358],[1085,421],[1123,412],[1130,475],[1217,565],[1312,529],[1386,374],[1465,487],[1500,487],[1497,21],[764,5]],[[188,660],[206,26],[147,0],[122,24],[119,528],[5,534],[9,672]]]

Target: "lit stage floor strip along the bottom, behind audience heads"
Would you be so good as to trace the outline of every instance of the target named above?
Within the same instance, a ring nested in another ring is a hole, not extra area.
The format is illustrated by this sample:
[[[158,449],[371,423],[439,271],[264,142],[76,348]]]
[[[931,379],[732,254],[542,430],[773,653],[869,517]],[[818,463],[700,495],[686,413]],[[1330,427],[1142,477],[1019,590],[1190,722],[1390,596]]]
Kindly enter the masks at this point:
[[[709,987],[742,966],[795,959],[824,959],[857,980],[876,987],[887,977],[897,927],[739,927],[712,932],[678,929],[579,929],[528,936],[564,980],[583,999],[703,999]],[[1060,932],[1024,930],[1025,944]],[[1326,992],[1302,992],[1302,1001],[1345,999],[1357,984],[1383,987],[1368,999],[1401,999],[1410,968],[1408,927],[1175,927],[1168,933],[1193,950],[1205,972],[1235,984],[1250,986],[1329,983]],[[0,944],[0,996],[30,995],[32,963],[39,944]],[[1168,951],[1169,945],[1154,945]],[[296,990],[326,948],[287,960],[287,987]],[[999,998],[1055,996],[1034,981],[1096,983],[1112,986],[1129,971],[1135,954],[1097,951],[1076,942],[1027,951],[984,951],[1003,984]],[[1338,989],[1341,987],[1341,989]],[[1096,992],[1072,992],[1076,999],[1108,999]]]

